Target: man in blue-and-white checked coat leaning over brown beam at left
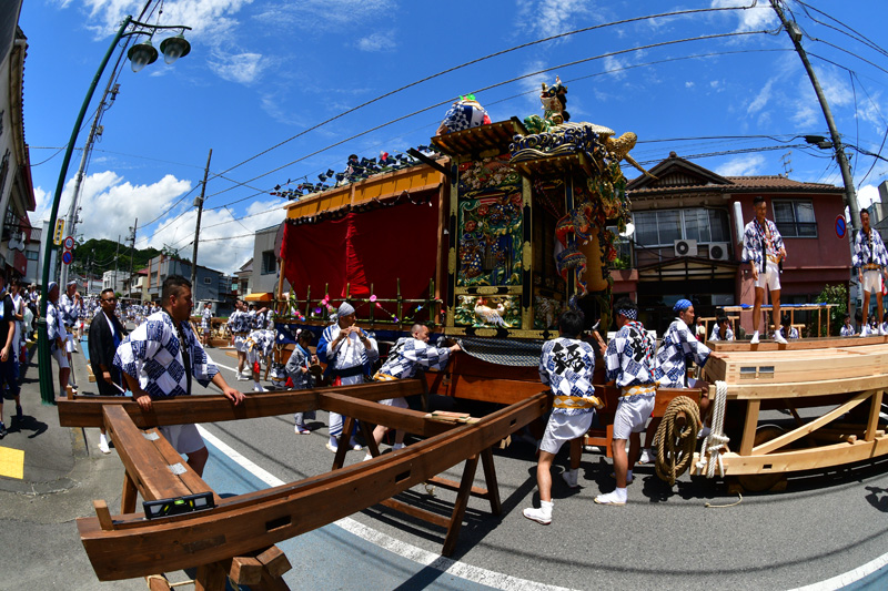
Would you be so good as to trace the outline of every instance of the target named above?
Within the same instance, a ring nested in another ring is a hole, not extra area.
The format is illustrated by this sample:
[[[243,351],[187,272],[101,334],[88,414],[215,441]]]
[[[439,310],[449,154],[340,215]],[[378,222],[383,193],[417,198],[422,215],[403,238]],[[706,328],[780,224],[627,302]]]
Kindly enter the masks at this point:
[[[239,405],[243,394],[225,383],[191,329],[191,282],[170,275],[163,282],[161,302],[161,310],[130,333],[114,355],[114,367],[123,373],[133,400],[143,411],[150,411],[153,400],[190,395],[191,381],[196,379],[204,387],[212,381]],[[203,476],[210,452],[198,428],[186,424],[159,429],[178,452],[188,456],[194,472]]]

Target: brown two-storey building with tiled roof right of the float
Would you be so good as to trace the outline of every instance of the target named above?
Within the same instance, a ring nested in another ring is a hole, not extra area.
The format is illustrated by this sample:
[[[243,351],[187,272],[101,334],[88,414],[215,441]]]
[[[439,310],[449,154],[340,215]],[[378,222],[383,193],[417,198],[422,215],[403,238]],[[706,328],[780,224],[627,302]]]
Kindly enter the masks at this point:
[[[724,306],[751,306],[754,283],[741,264],[744,226],[754,217],[753,200],[768,203],[768,218],[784,237],[781,303],[814,303],[826,285],[849,287],[849,238],[836,233],[845,216],[844,190],[803,183],[783,175],[720,176],[675,152],[627,185],[635,232],[622,244],[614,272],[615,294],[638,302],[650,328],[663,330],[680,298],[698,316]],[[740,315],[751,328],[751,312]]]

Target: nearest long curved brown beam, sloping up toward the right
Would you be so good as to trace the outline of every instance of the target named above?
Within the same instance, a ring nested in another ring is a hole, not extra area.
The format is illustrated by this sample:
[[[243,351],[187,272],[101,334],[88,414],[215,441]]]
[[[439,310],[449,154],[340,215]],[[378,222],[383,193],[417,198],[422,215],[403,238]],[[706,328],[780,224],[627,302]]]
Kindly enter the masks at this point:
[[[78,529],[102,581],[245,556],[394,497],[480,454],[546,408],[541,393],[372,462],[224,499],[209,511],[152,521],[118,516],[111,531],[103,531],[98,518],[82,518]]]

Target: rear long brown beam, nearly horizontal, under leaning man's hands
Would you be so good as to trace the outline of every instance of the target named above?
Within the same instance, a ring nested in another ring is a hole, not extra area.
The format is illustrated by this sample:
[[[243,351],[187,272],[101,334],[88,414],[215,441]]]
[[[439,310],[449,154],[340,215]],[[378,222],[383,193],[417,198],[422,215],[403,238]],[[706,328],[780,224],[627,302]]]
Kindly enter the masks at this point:
[[[233,406],[222,395],[182,396],[154,401],[148,412],[132,401],[132,398],[122,396],[78,396],[73,400],[57,398],[56,404],[62,427],[102,427],[102,407],[120,405],[133,422],[144,429],[160,425],[221,422],[317,410],[321,408],[319,396],[335,391],[343,391],[343,388],[330,386],[313,390],[249,393],[238,406]],[[423,386],[418,379],[404,379],[349,386],[347,391],[350,397],[362,400],[384,400],[422,394]]]

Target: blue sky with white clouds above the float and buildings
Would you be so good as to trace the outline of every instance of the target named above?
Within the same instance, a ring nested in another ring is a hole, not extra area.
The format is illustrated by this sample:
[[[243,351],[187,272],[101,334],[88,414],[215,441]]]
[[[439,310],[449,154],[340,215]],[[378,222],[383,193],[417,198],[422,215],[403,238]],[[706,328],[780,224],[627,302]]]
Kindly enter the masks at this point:
[[[840,184],[830,154],[799,146],[804,140],[794,137],[827,135],[827,126],[788,37],[776,31],[776,16],[761,0],[746,10],[643,19],[536,43],[312,129],[426,77],[551,35],[655,13],[751,3],[184,0],[165,2],[162,14],[154,3],[150,22],[192,27],[186,33],[192,50],[172,65],[161,57],[138,74],[129,64],[122,70],[120,94],[102,115],[102,137],[87,170],[79,234],[117,240],[138,217],[137,246],[170,245],[190,257],[192,202],[212,149],[199,263],[232,272],[252,255],[248,235],[283,218],[283,201],[269,194],[275,185],[303,175],[316,182],[327,169],[341,171],[350,153],[373,157],[381,150],[397,153],[427,144],[447,106],[425,109],[462,93],[475,92],[493,121],[539,113],[536,91],[556,74],[568,88],[573,121],[637,133],[632,154],[647,167],[675,151],[698,156],[692,160],[723,175],[788,173],[799,181]],[[19,23],[29,43],[24,125],[38,198],[32,223],[48,217],[62,160],[58,149],[68,141],[115,29],[143,4],[26,0]],[[888,58],[840,31],[885,45],[888,2],[794,0],[788,7],[807,35],[805,48],[817,55],[811,60],[845,142],[879,153],[888,129]],[[765,30],[771,34],[758,32]],[[730,35],[683,41],[718,34]],[[564,65],[581,60],[586,61]],[[113,59],[91,110],[112,65]],[[518,80],[508,82],[513,79]],[[84,130],[77,145],[85,139]],[[878,161],[865,179],[874,159],[849,152],[865,205],[888,179],[888,163]],[[79,161],[75,152],[69,180]],[[637,175],[630,167],[625,173]],[[70,181],[67,186],[62,213],[70,203]]]

